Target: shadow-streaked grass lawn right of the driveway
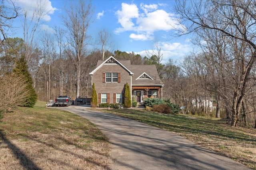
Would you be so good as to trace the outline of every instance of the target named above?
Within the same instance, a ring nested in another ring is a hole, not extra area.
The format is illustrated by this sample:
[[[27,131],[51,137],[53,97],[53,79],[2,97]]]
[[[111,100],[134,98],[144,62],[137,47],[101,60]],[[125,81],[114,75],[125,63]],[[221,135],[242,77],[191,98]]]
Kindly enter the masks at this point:
[[[256,129],[231,127],[226,119],[184,114],[166,115],[146,109],[101,109],[101,111],[171,131],[256,169]]]

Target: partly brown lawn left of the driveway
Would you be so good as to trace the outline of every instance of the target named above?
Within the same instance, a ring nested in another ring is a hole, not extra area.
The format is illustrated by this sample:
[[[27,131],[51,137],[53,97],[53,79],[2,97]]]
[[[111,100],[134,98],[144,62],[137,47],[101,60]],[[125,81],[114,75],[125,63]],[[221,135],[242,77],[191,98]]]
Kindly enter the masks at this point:
[[[92,123],[59,109],[20,108],[0,122],[0,170],[106,170],[110,146]]]

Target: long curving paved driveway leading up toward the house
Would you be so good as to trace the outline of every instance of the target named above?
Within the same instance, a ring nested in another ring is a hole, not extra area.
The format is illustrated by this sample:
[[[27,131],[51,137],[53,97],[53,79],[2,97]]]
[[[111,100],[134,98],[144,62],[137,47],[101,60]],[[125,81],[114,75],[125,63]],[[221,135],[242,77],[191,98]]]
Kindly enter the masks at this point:
[[[112,170],[250,170],[184,137],[83,106],[58,107],[94,123],[112,143]]]

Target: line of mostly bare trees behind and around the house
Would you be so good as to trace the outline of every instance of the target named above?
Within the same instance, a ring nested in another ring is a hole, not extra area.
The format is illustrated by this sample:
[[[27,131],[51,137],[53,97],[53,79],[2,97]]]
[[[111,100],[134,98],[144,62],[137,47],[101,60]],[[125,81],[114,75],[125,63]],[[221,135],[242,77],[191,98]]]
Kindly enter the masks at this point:
[[[38,2],[31,21],[24,10],[23,39],[8,38],[2,33],[4,43],[0,45],[0,75],[12,73],[24,54],[39,100],[48,101],[64,94],[72,99],[90,97],[89,72],[98,60],[112,55],[118,60],[130,60],[131,64],[156,65],[164,82],[164,98],[183,106],[184,113],[223,117],[230,119],[233,126],[256,127],[255,0],[177,0],[175,12],[184,29],[170,36],[193,35],[191,41],[196,51],[181,63],[169,59],[164,64],[158,43],[154,50],[146,50],[146,56],[140,56],[114,50],[111,34],[104,29],[94,37],[98,41],[92,42],[88,34],[94,14],[91,2],[70,2],[64,9],[67,15],[61,17],[64,27],[55,27],[53,33],[40,31],[40,18],[47,12],[38,11],[44,5],[43,1]],[[17,17],[15,6],[10,9],[13,15],[6,20]],[[0,26],[3,28],[4,24]],[[35,41],[35,35],[40,35],[40,41]],[[101,48],[89,48],[93,43]]]

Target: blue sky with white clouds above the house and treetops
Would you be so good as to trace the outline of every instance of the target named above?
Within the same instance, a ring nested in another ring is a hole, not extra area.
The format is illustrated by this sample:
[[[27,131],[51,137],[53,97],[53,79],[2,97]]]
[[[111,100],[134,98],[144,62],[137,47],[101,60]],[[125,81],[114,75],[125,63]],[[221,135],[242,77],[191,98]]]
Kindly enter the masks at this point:
[[[78,1],[73,1],[77,3]],[[36,0],[16,0],[16,5],[26,8],[32,14]],[[40,25],[40,29],[52,30],[54,26],[62,26],[60,16],[67,0],[45,0],[46,11],[50,11]],[[105,29],[111,34],[110,41],[114,50],[134,52],[145,56],[145,50],[151,51],[155,43],[161,48],[163,62],[168,59],[181,60],[192,51],[188,37],[173,37],[175,30],[183,29],[176,21],[172,12],[174,0],[92,0],[94,6],[93,23],[88,33],[96,39],[98,32]],[[23,38],[22,28],[19,28],[20,19],[15,23],[16,35]]]

